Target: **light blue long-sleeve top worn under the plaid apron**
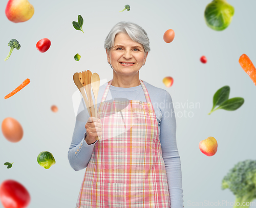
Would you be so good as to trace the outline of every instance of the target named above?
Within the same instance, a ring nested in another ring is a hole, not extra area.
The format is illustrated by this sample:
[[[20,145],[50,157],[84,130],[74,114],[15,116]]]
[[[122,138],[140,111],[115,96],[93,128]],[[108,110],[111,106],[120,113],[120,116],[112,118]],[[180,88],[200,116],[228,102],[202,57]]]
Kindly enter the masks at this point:
[[[145,81],[143,81],[143,83],[148,91],[148,94],[150,95],[158,121],[159,140],[162,147],[162,155],[169,187],[170,207],[182,208],[183,189],[181,163],[176,143],[176,119],[172,97],[166,90],[154,87]],[[105,83],[99,88],[97,98],[98,107],[107,85],[108,83]],[[129,100],[140,100],[146,102],[141,85],[130,88],[111,86],[106,97],[106,101],[113,100],[115,98],[125,98]],[[81,100],[79,106],[80,111],[82,108],[84,108],[83,100]],[[82,110],[76,117],[73,138],[68,152],[69,163],[75,171],[79,171],[87,167],[91,159],[94,145],[97,142],[96,141],[95,143],[88,145],[84,140],[86,137],[85,125],[88,118],[89,113],[87,109]]]

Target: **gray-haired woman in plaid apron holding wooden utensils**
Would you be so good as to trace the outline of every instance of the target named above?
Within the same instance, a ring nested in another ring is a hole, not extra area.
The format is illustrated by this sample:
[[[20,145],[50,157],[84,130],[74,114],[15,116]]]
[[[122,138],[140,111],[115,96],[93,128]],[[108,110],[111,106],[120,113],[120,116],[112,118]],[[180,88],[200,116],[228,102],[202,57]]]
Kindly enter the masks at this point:
[[[172,98],[139,78],[149,43],[132,22],[105,39],[113,79],[99,89],[99,119],[77,115],[68,152],[74,170],[87,168],[76,207],[183,207]]]

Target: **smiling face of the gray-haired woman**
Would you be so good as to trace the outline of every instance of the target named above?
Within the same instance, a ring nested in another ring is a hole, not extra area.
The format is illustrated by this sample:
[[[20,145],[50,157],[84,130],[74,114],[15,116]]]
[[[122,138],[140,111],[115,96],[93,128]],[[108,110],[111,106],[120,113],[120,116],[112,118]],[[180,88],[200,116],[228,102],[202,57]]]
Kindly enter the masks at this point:
[[[114,69],[114,76],[137,76],[147,57],[143,45],[124,33],[116,35],[114,46],[106,50],[106,55]]]

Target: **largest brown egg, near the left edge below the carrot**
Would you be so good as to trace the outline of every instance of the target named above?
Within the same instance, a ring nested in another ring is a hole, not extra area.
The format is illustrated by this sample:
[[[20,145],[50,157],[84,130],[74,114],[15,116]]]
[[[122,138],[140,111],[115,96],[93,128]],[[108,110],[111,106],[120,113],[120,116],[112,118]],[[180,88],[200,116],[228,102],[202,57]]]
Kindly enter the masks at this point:
[[[16,119],[7,117],[2,122],[2,133],[9,142],[18,142],[23,137],[23,128]]]

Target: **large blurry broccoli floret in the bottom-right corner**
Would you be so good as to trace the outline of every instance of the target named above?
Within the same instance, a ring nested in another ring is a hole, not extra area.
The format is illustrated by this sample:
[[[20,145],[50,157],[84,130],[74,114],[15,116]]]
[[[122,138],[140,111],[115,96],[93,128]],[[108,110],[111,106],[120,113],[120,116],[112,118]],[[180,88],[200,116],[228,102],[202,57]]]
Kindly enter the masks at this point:
[[[256,161],[246,160],[236,164],[223,178],[221,188],[230,189],[236,196],[233,207],[249,207],[246,202],[256,199]]]

